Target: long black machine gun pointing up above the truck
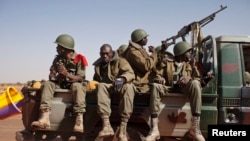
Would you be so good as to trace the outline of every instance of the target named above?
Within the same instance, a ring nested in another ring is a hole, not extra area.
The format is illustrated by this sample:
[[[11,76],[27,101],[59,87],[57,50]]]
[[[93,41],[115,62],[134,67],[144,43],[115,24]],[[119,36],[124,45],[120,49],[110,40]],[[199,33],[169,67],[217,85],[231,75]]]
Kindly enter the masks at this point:
[[[184,26],[184,27],[177,33],[177,35],[174,35],[174,36],[172,36],[172,37],[170,37],[170,38],[167,38],[167,39],[166,39],[165,41],[163,41],[163,42],[167,42],[167,44],[168,44],[168,46],[169,46],[169,45],[175,44],[176,39],[177,39],[177,38],[180,38],[180,37],[182,38],[183,41],[186,41],[185,35],[187,35],[187,34],[192,30],[192,26],[193,26],[193,25],[198,24],[200,27],[203,27],[203,26],[207,25],[208,23],[210,23],[211,21],[214,20],[214,18],[215,18],[215,16],[216,16],[217,13],[221,12],[222,10],[224,10],[224,9],[226,9],[226,8],[227,8],[227,6],[222,6],[222,5],[221,5],[220,10],[218,10],[218,11],[216,11],[216,12],[214,12],[214,13],[208,15],[207,17],[205,17],[205,18],[203,18],[203,19],[201,19],[201,20],[199,20],[199,21],[194,21],[194,22],[192,22],[192,23],[190,23],[190,24]],[[170,40],[172,40],[172,42],[168,43],[168,41],[170,41]]]

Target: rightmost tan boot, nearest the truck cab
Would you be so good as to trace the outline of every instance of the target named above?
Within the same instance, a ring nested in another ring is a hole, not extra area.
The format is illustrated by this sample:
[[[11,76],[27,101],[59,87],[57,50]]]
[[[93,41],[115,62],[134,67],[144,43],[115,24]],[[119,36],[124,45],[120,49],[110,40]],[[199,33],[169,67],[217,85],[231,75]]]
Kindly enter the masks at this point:
[[[193,116],[192,119],[192,126],[189,130],[189,133],[193,136],[196,141],[205,141],[205,138],[201,134],[200,130],[200,117]]]

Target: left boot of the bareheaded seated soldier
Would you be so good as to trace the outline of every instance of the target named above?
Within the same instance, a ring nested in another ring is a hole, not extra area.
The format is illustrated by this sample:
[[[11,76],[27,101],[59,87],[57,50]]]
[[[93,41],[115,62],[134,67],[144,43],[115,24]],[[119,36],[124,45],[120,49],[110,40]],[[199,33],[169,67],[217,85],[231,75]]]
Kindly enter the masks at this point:
[[[102,130],[98,133],[99,138],[114,135],[114,130],[111,127],[109,116],[102,116],[102,126]]]

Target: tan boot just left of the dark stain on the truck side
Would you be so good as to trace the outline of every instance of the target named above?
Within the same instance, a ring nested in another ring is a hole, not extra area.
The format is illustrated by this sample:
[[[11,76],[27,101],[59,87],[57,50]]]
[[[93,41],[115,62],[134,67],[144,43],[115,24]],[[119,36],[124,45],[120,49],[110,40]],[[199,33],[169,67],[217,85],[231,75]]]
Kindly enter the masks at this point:
[[[145,138],[145,141],[155,141],[159,139],[160,139],[160,132],[158,129],[158,118],[152,118],[151,129],[148,133],[148,136]]]

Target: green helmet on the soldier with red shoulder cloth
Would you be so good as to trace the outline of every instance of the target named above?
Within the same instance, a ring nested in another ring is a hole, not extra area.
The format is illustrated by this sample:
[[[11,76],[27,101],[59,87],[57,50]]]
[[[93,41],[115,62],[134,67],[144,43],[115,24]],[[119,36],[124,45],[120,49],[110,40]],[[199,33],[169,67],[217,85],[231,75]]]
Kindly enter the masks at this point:
[[[74,39],[68,34],[61,34],[56,38],[55,43],[66,48],[74,50],[75,42]]]

